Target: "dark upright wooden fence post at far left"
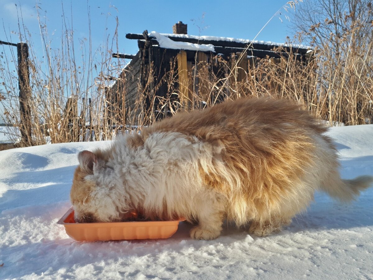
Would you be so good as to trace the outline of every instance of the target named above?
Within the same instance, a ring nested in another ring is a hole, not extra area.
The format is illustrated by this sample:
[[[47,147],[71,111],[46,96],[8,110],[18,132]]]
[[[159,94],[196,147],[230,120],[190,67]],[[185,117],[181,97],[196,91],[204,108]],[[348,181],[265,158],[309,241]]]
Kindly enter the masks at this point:
[[[31,144],[31,88],[30,69],[28,60],[28,46],[26,43],[17,44],[18,56],[18,88],[19,88],[19,112],[21,114],[21,137],[24,143]]]

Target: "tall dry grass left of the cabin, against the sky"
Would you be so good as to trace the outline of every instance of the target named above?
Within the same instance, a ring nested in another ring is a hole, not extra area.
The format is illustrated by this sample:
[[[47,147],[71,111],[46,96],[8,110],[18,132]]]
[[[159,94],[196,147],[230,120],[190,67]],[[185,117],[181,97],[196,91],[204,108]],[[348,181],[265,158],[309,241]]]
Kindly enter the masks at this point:
[[[4,93],[0,95],[4,108],[3,121],[21,130],[31,130],[32,138],[27,142],[21,140],[21,146],[46,144],[48,141],[63,143],[96,139],[97,135],[92,128],[100,125],[105,108],[102,85],[108,83],[107,73],[117,75],[118,69],[123,68],[117,60],[112,60],[111,55],[112,52],[118,52],[115,45],[117,30],[112,37],[106,38],[104,46],[93,50],[90,36],[77,39],[74,27],[68,28],[65,25],[57,49],[50,45],[52,38],[47,26],[40,21],[41,18],[43,16],[38,14],[43,42],[42,57],[40,53],[34,53],[37,49],[34,40],[40,38],[32,38],[22,24],[18,30],[20,40],[29,46],[30,86],[25,88],[28,95],[25,103],[31,117],[25,128],[21,125],[25,121],[20,117],[18,75],[13,71],[17,63],[16,48],[1,46],[4,49],[0,56],[0,76],[4,88]],[[63,14],[62,21],[65,20]],[[88,22],[89,34],[90,26]],[[79,44],[76,45],[76,42]],[[79,64],[76,63],[76,57],[81,57]]]

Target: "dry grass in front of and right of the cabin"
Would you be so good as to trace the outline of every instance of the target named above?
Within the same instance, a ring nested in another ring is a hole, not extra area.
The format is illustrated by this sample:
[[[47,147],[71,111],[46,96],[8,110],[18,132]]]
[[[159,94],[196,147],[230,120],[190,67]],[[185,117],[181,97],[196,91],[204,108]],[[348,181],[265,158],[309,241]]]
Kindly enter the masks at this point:
[[[301,103],[330,124],[371,124],[372,46],[369,44],[367,49],[358,52],[346,47],[338,54],[328,48],[316,48],[308,56],[307,63],[297,60],[292,53],[280,59],[249,58],[247,70],[241,67],[242,57],[239,55],[228,61],[217,56],[211,59],[210,65],[195,64],[197,66],[189,73],[188,96],[181,96],[177,89],[173,90],[178,99],[171,96],[160,99],[160,108],[174,114],[212,106],[225,99],[267,95]],[[211,73],[209,69],[213,68],[223,69],[224,76]],[[174,74],[167,75],[173,77]],[[193,86],[195,80],[202,81],[198,83],[199,87]],[[155,106],[157,102],[154,98],[152,100]],[[150,123],[155,121],[154,116],[150,119]]]

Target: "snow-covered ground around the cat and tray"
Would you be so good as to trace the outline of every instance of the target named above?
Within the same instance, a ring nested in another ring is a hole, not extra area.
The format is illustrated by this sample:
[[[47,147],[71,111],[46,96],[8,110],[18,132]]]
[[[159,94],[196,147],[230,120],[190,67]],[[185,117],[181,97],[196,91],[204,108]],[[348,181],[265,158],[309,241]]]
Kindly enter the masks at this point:
[[[373,125],[330,130],[343,178],[373,175]],[[226,225],[211,241],[190,225],[166,240],[76,242],[57,220],[70,206],[82,149],[66,143],[0,152],[0,279],[373,279],[373,188],[349,205],[322,193],[282,232]]]

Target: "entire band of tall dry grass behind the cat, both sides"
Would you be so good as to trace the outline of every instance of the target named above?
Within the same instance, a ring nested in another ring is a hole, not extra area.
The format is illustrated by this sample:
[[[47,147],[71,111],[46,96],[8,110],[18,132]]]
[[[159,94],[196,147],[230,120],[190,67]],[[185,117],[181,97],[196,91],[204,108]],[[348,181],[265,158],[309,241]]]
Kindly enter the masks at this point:
[[[135,106],[125,108],[124,85],[117,87],[116,92],[108,92],[103,86],[107,83],[103,75],[107,69],[112,69],[113,76],[118,77],[119,69],[123,68],[120,60],[111,58],[116,34],[107,38],[106,46],[93,52],[90,38],[74,46],[73,32],[66,28],[65,37],[61,39],[63,47],[51,50],[47,28],[40,25],[43,27],[43,60],[32,52],[32,38],[23,31],[31,50],[28,105],[33,137],[28,143],[21,142],[21,146],[44,144],[46,137],[51,143],[112,139],[123,130],[136,131],[144,124],[153,123],[159,112],[173,115],[242,96],[287,98],[303,104],[305,109],[330,124],[373,123],[372,41],[361,38],[359,26],[348,34],[325,38],[325,42],[310,54],[308,63],[300,62],[292,53],[280,59],[249,57],[247,62],[242,54],[230,59],[217,56],[209,65],[198,63],[196,57],[189,73],[188,96],[182,96],[178,90],[177,66],[173,61],[171,70],[157,85],[166,84],[169,94],[164,98],[155,97],[150,67],[150,78],[144,87],[139,87]],[[336,42],[338,52],[331,47]],[[84,54],[81,65],[75,64],[76,52]],[[3,96],[6,99],[1,103],[6,109],[6,122],[20,126],[18,80],[9,68],[10,60],[16,61],[14,54],[12,59],[5,56],[0,59],[0,75],[6,89]],[[242,63],[248,63],[247,69]],[[120,75],[118,84],[123,81]],[[146,98],[152,106],[148,112],[142,112]]]

